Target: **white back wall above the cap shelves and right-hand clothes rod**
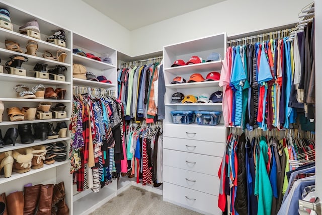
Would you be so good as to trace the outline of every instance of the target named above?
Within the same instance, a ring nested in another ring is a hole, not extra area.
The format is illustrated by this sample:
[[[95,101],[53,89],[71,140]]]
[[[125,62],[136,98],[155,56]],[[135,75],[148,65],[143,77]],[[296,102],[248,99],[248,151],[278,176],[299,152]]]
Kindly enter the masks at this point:
[[[131,55],[160,51],[164,45],[221,32],[229,36],[295,23],[300,10],[312,1],[227,0],[133,30]]]

